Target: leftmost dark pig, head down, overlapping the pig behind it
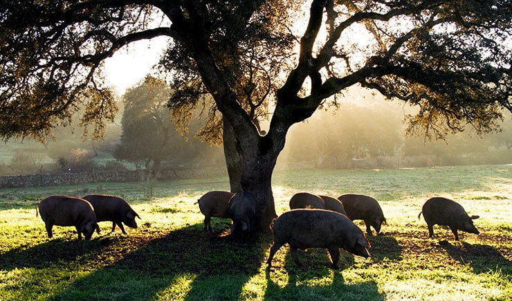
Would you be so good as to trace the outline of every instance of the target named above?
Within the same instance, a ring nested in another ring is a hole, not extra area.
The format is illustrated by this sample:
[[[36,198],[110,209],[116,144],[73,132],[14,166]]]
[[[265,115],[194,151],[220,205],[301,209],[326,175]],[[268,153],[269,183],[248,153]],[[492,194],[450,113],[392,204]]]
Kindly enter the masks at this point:
[[[35,204],[36,217],[38,206],[41,218],[46,226],[46,232],[48,232],[48,238],[53,237],[53,225],[75,226],[78,239],[82,239],[82,233],[85,239],[89,240],[93,236],[94,230],[100,232],[93,206],[84,199],[62,195],[47,197]]]

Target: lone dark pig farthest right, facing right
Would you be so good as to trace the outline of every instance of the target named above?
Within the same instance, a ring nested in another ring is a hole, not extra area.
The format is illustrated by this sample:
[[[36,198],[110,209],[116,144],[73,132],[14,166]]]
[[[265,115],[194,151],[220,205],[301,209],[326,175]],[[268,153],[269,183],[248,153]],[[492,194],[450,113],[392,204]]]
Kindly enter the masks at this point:
[[[457,230],[464,232],[480,234],[480,232],[473,225],[473,219],[479,218],[478,215],[468,216],[466,210],[460,206],[459,203],[444,197],[432,197],[423,204],[421,212],[419,212],[418,219],[423,213],[423,218],[427,222],[428,237],[434,236],[435,224],[439,226],[448,226],[455,235],[455,240],[459,240]]]

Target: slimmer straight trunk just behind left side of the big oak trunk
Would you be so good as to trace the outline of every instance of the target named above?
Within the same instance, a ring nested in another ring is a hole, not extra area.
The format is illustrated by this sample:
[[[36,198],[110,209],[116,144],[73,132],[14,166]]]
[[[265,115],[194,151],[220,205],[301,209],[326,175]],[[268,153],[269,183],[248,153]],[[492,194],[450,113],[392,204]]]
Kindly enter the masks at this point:
[[[241,191],[241,174],[243,164],[241,156],[237,149],[237,137],[229,121],[222,118],[223,131],[222,140],[224,147],[224,158],[226,158],[226,167],[228,168],[229,184],[231,192]]]

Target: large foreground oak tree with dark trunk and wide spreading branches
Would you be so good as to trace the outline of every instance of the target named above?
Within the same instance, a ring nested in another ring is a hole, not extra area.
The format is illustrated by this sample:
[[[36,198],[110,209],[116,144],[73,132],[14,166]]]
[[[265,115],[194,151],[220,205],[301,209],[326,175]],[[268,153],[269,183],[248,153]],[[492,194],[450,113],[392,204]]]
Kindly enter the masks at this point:
[[[255,196],[265,229],[287,131],[349,86],[416,105],[409,129],[427,136],[467,124],[497,129],[503,109],[511,111],[511,16],[502,0],[1,1],[0,135],[44,138],[84,100],[82,122],[100,135],[116,112],[102,61],[165,35],[172,43],[162,65],[183,91],[170,106],[209,93],[232,129],[241,188]],[[269,99],[262,132],[256,111]]]

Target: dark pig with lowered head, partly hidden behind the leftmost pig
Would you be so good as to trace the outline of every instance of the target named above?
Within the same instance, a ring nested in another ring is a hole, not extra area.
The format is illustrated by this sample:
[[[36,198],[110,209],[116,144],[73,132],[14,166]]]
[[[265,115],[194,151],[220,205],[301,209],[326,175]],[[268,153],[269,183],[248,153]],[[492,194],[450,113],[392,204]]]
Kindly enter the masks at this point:
[[[116,225],[118,225],[122,234],[127,234],[122,223],[125,223],[130,228],[137,228],[135,217],[139,219],[140,217],[124,199],[105,194],[89,194],[83,197],[83,199],[89,201],[93,206],[98,222],[112,221],[112,232],[116,229]]]

